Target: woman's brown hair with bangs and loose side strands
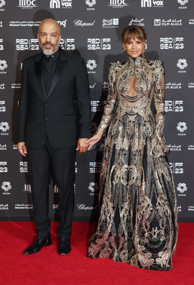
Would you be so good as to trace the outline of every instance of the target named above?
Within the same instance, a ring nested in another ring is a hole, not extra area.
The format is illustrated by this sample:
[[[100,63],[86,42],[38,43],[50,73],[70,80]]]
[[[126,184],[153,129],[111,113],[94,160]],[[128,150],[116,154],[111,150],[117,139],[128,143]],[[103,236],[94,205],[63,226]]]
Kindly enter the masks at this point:
[[[137,25],[131,25],[131,26],[127,26],[125,27],[122,32],[121,32],[121,41],[122,41],[122,45],[124,46],[127,42],[129,42],[130,40],[135,40],[139,39],[140,41],[142,41],[144,43],[144,49],[142,51],[142,56],[144,57],[144,52],[146,49],[146,40],[147,40],[147,34],[146,31],[144,30],[144,28],[142,28],[141,26],[137,26]],[[125,49],[124,49],[125,50]],[[124,50],[122,52],[124,52]]]

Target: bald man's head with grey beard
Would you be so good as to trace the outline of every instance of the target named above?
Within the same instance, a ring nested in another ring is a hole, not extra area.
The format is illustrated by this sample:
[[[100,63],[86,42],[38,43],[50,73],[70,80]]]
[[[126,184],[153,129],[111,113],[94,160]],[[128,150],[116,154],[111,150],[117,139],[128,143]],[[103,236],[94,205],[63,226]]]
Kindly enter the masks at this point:
[[[38,41],[45,55],[52,55],[59,49],[61,29],[53,19],[43,20],[38,27]]]

